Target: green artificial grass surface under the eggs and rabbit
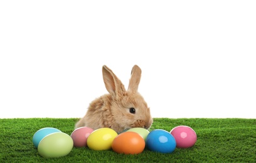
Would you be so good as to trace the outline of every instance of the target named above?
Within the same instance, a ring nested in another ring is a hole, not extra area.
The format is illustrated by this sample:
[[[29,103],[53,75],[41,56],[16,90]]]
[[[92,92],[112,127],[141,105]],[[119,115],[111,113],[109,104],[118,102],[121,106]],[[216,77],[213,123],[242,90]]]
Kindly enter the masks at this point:
[[[64,157],[45,158],[38,154],[32,138],[37,130],[55,127],[71,134],[78,118],[0,119],[0,162],[256,162],[256,119],[244,118],[154,118],[151,130],[170,132],[187,125],[197,133],[188,149],[170,154],[144,149],[141,154],[117,154],[73,147]]]

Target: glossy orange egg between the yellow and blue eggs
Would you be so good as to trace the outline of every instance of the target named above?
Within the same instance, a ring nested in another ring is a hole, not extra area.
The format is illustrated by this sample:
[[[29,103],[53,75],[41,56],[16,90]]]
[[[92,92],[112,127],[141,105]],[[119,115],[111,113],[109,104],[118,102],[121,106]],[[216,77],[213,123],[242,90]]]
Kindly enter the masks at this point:
[[[136,132],[122,132],[112,142],[113,151],[119,154],[140,154],[145,148],[145,140]]]

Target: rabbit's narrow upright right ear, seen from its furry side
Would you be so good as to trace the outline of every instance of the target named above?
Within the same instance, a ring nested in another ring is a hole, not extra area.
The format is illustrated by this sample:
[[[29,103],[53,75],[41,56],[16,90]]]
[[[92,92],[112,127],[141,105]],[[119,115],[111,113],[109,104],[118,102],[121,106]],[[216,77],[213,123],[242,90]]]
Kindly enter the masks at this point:
[[[141,81],[141,68],[139,68],[139,66],[137,66],[137,65],[134,65],[132,67],[131,78],[129,81],[128,90],[137,92],[137,90],[139,88],[139,81]]]

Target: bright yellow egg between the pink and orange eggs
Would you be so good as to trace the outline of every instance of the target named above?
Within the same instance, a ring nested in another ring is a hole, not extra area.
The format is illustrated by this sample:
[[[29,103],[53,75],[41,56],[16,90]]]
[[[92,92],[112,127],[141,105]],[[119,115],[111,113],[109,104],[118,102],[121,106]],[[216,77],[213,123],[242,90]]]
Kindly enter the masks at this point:
[[[111,149],[113,139],[117,136],[117,132],[110,128],[96,129],[89,135],[87,146],[92,150],[108,150]]]

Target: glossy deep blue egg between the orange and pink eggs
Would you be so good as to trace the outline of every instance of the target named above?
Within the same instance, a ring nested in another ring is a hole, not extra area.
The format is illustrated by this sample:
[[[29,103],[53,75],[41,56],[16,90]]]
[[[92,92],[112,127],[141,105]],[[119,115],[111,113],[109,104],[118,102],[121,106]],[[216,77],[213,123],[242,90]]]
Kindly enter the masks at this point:
[[[155,152],[172,153],[176,148],[176,141],[170,132],[156,129],[149,132],[146,147]]]

